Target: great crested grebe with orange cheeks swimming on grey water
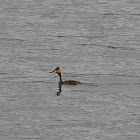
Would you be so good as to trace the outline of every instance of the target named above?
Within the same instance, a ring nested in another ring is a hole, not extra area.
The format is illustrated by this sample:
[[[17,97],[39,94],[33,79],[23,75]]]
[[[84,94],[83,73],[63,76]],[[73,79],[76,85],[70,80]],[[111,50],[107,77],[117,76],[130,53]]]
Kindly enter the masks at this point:
[[[53,73],[53,72],[55,72],[59,75],[59,84],[61,84],[61,85],[81,85],[82,84],[78,81],[73,81],[73,80],[62,81],[61,72],[60,72],[59,67],[57,67],[55,70],[53,70],[50,73]]]

